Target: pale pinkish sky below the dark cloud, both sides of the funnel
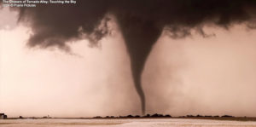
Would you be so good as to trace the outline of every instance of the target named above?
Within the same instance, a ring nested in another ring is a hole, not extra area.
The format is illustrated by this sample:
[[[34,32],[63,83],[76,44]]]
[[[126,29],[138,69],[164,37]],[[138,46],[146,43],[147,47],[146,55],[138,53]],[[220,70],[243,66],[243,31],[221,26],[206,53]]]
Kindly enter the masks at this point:
[[[9,116],[91,117],[140,113],[125,43],[114,32],[101,48],[88,41],[29,49],[31,31],[0,10],[0,112]],[[163,34],[143,72],[147,113],[256,116],[256,31],[207,27],[216,36]]]

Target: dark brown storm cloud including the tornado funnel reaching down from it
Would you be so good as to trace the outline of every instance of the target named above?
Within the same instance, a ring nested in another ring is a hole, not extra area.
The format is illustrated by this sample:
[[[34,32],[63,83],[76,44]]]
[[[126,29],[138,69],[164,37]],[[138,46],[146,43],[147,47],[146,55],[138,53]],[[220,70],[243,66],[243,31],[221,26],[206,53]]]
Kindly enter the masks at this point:
[[[213,24],[229,28],[248,23],[255,27],[255,0],[80,0],[76,5],[20,8],[20,22],[32,27],[30,47],[57,46],[69,50],[67,42],[85,38],[96,44],[108,34],[108,18],[113,14],[125,38],[131,69],[145,111],[141,86],[144,63],[165,29],[172,38],[189,36],[193,29],[207,37],[202,27]]]

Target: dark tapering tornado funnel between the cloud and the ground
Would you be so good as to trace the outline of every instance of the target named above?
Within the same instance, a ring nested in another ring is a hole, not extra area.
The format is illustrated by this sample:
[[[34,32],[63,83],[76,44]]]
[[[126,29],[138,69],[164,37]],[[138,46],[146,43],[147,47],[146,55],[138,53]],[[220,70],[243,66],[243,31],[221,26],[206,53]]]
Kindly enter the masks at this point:
[[[122,16],[119,16],[122,17]],[[153,20],[137,17],[119,18],[119,27],[131,59],[131,72],[137,94],[141,100],[142,113],[145,113],[146,98],[142,87],[142,73],[145,62],[154,43],[160,37],[161,28]]]

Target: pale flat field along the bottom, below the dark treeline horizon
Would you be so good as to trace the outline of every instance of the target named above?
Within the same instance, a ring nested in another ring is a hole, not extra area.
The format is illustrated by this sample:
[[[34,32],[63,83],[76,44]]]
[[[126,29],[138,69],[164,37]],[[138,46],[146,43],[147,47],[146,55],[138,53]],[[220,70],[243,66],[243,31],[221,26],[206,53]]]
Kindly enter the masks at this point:
[[[0,127],[256,127],[255,121],[190,118],[4,119]]]

